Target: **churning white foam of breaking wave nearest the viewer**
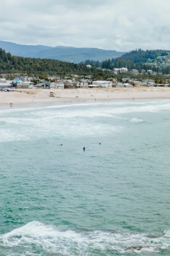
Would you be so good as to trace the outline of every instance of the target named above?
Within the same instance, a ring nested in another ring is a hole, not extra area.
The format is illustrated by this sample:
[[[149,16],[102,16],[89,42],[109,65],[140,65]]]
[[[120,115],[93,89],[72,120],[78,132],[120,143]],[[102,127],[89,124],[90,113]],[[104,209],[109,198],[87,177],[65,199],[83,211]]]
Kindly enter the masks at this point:
[[[170,230],[165,236],[149,238],[145,233],[131,233],[118,231],[74,231],[66,230],[66,227],[44,225],[33,221],[21,228],[12,230],[0,237],[1,246],[25,247],[30,253],[33,248],[43,248],[44,253],[57,253],[62,255],[108,255],[109,251],[120,253],[151,253],[158,252],[170,246]],[[135,248],[136,247],[136,248]],[[137,250],[142,247],[141,250]]]

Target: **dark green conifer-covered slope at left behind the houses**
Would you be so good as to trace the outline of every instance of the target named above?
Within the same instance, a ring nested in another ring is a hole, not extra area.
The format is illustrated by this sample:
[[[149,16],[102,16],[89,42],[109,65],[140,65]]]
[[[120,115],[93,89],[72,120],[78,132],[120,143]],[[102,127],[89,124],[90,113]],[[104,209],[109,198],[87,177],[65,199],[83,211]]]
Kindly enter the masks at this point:
[[[55,74],[77,74],[91,75],[97,74],[96,68],[87,68],[82,64],[74,64],[60,60],[35,59],[12,56],[9,52],[0,48],[0,73],[34,73],[41,74],[48,72]]]

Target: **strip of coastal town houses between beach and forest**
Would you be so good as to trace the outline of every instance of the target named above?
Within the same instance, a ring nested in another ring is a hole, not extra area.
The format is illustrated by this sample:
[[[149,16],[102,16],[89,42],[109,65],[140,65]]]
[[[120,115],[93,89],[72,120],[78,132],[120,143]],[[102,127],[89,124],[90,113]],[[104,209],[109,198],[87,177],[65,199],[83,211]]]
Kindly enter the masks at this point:
[[[125,69],[125,68],[124,68]],[[137,70],[132,70],[137,74]],[[123,78],[107,78],[106,80],[95,80],[92,75],[78,76],[70,74],[67,77],[50,76],[46,79],[37,78],[34,76],[20,76],[15,75],[13,80],[7,78],[7,74],[0,75],[0,89],[78,89],[78,88],[121,88],[121,87],[170,87],[170,81],[164,83],[157,83],[154,79],[140,79],[130,77]]]

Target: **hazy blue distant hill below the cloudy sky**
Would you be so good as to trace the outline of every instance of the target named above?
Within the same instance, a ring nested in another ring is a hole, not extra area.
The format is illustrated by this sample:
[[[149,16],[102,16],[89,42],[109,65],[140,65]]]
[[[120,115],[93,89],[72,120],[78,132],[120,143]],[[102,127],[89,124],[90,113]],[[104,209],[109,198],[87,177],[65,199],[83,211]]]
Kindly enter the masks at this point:
[[[79,63],[89,60],[106,60],[120,57],[123,52],[97,48],[76,48],[69,46],[50,47],[45,45],[22,45],[0,41],[0,48],[12,55],[31,58],[55,59]]]

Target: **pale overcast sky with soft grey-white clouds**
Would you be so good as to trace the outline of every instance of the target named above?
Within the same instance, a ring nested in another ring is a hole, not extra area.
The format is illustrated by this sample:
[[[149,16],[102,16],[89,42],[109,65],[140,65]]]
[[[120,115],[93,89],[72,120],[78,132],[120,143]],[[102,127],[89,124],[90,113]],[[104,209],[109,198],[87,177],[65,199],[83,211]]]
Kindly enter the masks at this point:
[[[170,50],[169,0],[1,0],[0,40]]]

